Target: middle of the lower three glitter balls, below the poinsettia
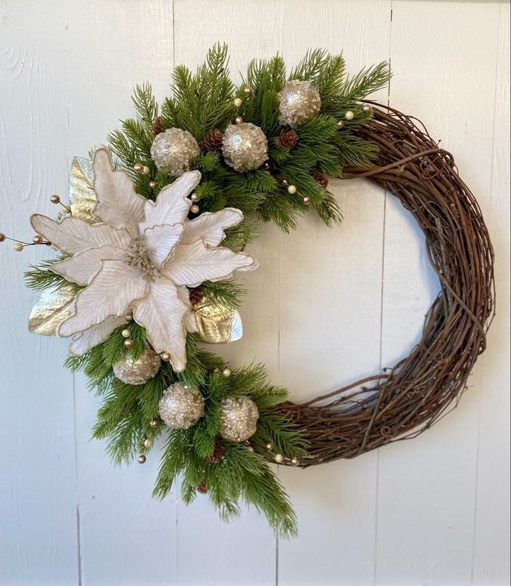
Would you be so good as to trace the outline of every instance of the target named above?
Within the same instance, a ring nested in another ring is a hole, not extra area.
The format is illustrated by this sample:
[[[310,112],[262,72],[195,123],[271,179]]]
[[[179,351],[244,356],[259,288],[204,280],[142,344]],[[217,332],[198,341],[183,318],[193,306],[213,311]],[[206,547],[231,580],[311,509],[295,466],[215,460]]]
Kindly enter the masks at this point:
[[[160,417],[174,429],[188,429],[204,415],[204,398],[197,389],[174,383],[163,393],[158,405]]]

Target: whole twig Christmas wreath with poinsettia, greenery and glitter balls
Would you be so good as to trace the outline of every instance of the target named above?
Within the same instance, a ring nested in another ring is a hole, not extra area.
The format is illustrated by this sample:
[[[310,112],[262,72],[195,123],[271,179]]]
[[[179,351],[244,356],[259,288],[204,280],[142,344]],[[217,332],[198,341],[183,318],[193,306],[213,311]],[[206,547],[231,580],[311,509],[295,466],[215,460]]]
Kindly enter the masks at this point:
[[[419,122],[367,101],[385,63],[346,76],[342,56],[310,51],[286,74],[253,61],[240,87],[215,46],[192,74],[176,67],[158,108],[135,88],[135,119],[89,158],[74,158],[57,219],[35,214],[33,242],[58,251],[26,272],[42,292],[29,328],[69,337],[66,364],[102,400],[94,437],[116,462],[165,436],[154,495],[181,475],[186,503],[207,493],[225,518],[243,499],[281,535],[296,517],[269,462],[353,458],[431,426],[466,386],[493,315],[493,253],[452,156]],[[258,221],[283,231],[314,211],[342,219],[328,177],[367,177],[399,198],[426,235],[441,292],[421,341],[392,369],[294,404],[262,365],[229,367],[202,342],[239,339],[256,268]],[[0,240],[6,240],[0,235]]]

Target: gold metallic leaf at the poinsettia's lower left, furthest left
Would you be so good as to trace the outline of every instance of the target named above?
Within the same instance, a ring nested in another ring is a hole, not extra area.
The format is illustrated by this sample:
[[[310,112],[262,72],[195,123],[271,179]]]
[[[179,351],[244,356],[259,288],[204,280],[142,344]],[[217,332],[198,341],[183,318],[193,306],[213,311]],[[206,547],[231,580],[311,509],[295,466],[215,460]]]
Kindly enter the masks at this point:
[[[73,315],[72,305],[76,287],[43,291],[28,318],[28,330],[43,336],[54,336],[62,321]]]

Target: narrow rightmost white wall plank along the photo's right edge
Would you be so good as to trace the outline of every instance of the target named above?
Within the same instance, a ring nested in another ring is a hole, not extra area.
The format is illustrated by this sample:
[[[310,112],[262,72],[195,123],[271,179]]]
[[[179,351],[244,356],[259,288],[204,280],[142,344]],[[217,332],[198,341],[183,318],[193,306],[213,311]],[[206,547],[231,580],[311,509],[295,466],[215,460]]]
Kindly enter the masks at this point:
[[[496,250],[497,315],[478,363],[480,419],[474,536],[474,584],[510,579],[510,5],[500,6],[493,164],[487,220]]]

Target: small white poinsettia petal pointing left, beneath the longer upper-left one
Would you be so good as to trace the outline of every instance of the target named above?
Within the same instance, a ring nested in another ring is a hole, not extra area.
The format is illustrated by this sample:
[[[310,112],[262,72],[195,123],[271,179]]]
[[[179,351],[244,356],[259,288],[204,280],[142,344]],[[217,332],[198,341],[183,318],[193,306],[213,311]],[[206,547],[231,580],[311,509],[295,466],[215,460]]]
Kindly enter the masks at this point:
[[[101,260],[124,260],[126,251],[115,246],[99,246],[79,252],[71,258],[53,262],[50,270],[62,275],[66,281],[88,285],[92,277],[101,269]]]

